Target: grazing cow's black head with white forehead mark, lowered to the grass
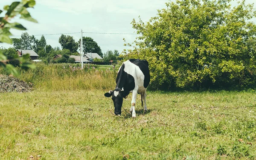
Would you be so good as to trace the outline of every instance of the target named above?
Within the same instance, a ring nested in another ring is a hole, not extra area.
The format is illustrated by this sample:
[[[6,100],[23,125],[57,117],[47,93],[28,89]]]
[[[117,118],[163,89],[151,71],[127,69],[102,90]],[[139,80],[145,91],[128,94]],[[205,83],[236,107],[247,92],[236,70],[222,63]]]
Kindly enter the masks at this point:
[[[122,109],[122,102],[123,102],[123,98],[127,98],[128,94],[130,92],[129,91],[122,91],[119,88],[116,88],[113,91],[109,91],[107,93],[105,93],[105,97],[111,97],[112,96],[112,100],[114,103],[114,107],[115,107],[115,114],[120,116],[121,115],[121,109]]]

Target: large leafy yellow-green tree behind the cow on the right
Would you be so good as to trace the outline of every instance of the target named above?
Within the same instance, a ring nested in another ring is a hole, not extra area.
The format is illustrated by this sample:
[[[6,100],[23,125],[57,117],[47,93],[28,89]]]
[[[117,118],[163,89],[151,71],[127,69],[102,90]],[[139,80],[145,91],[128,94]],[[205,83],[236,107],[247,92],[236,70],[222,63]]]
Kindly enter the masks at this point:
[[[244,1],[177,0],[147,23],[128,57],[146,59],[153,86],[242,86],[256,77],[256,16]],[[155,84],[155,85],[154,85]]]

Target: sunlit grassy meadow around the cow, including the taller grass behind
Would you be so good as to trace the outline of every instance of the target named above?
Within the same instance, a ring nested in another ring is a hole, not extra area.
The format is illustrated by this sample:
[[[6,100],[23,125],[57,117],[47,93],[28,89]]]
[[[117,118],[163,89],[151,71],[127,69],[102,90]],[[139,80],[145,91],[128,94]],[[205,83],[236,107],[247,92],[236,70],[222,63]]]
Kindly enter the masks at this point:
[[[118,68],[38,64],[29,93],[0,94],[2,160],[234,160],[256,158],[256,92],[148,91],[137,117],[113,115]]]

